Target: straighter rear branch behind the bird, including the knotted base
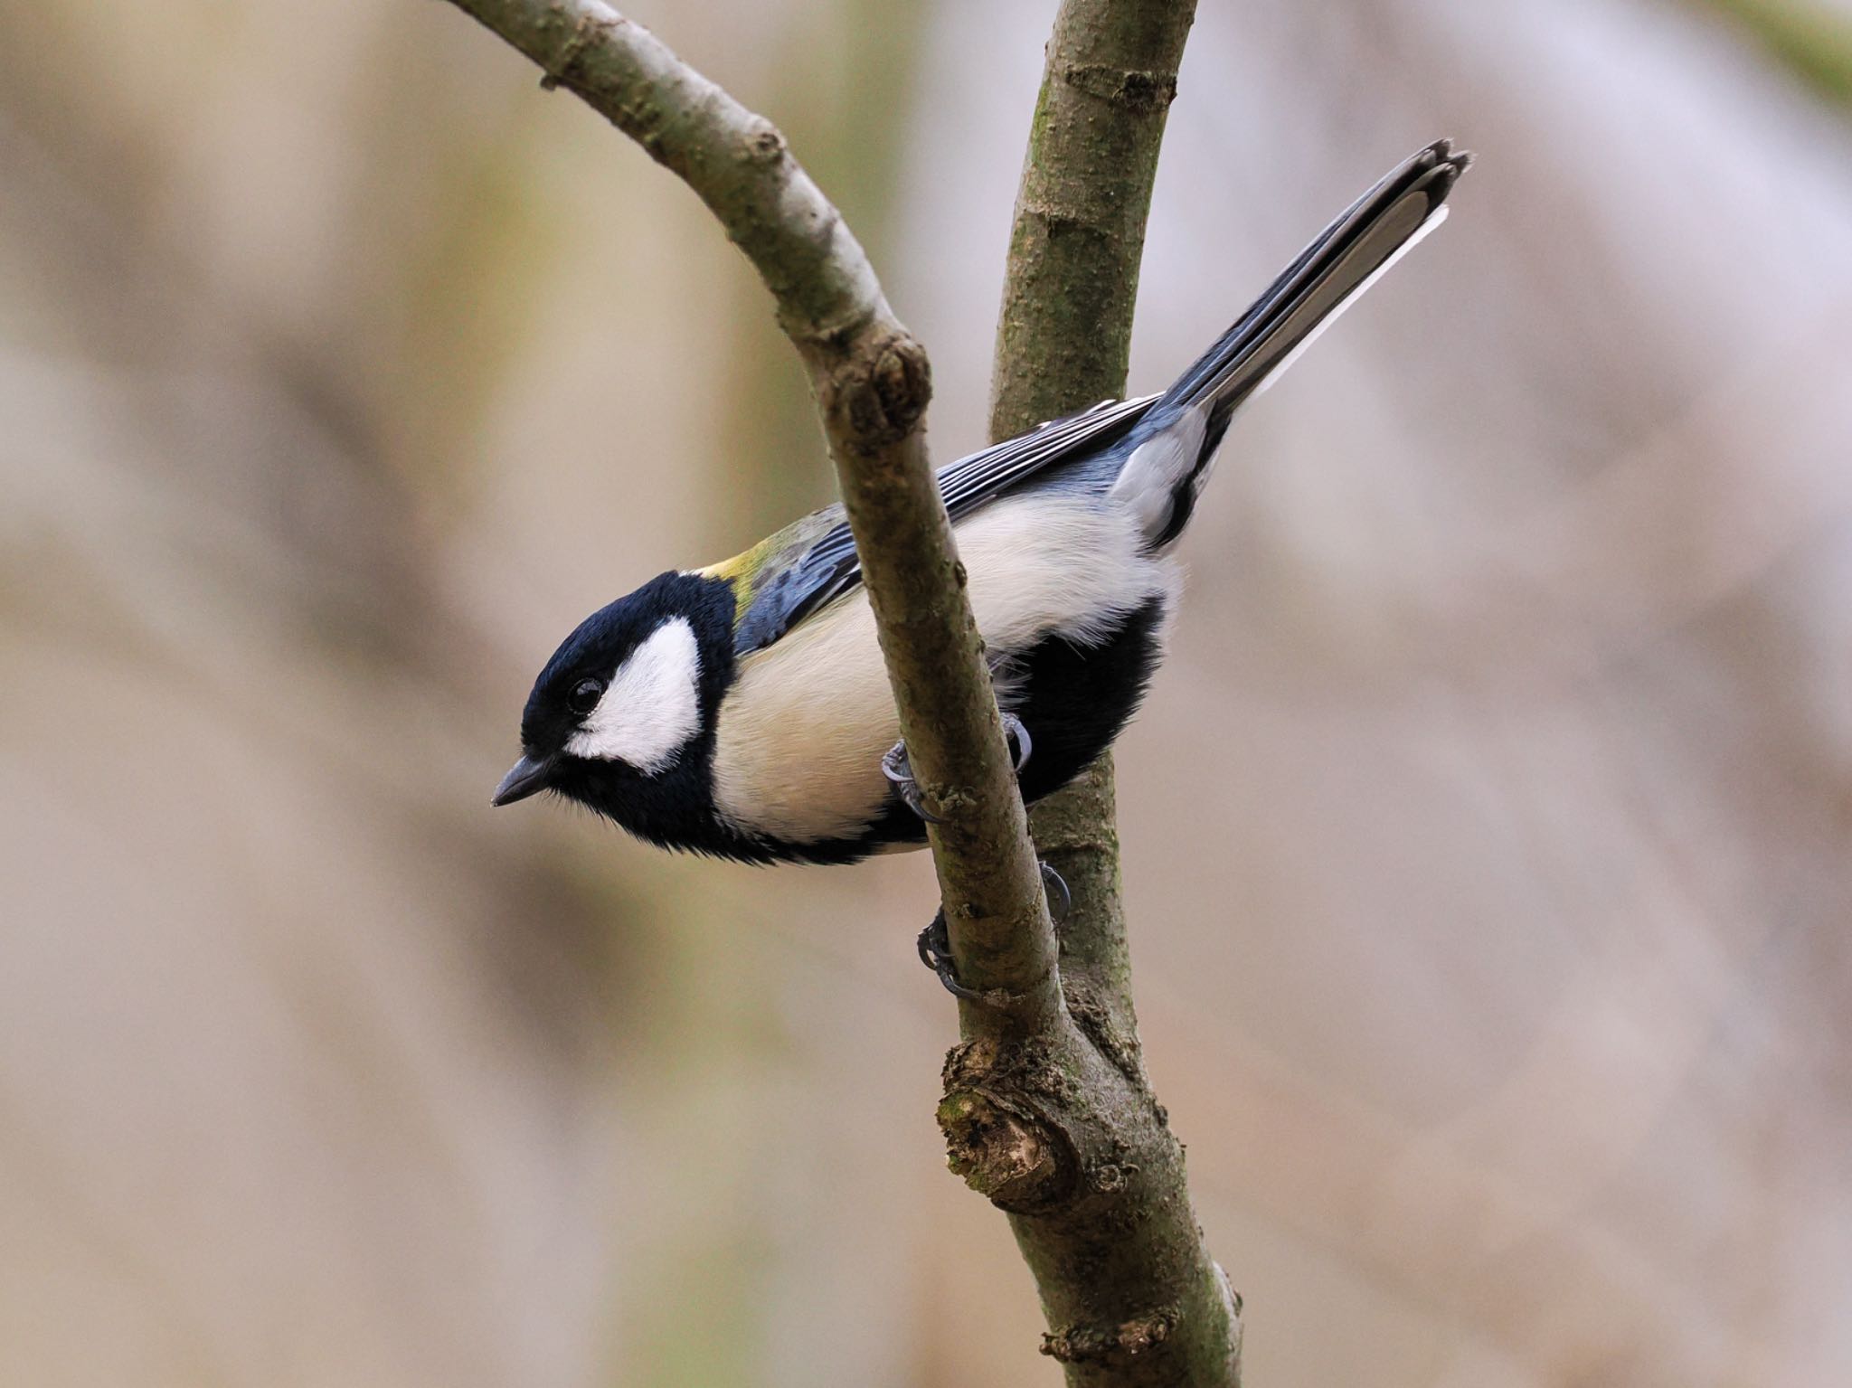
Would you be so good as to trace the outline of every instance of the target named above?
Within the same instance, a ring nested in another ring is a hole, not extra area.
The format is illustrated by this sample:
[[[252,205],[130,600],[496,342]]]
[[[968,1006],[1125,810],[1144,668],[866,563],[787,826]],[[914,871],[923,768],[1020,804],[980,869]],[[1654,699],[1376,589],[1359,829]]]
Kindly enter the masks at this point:
[[[1056,17],[1009,239],[993,439],[1124,394],[1193,17],[1193,0],[1067,0]],[[1059,951],[1072,1025],[1017,1038],[963,1009],[941,1105],[954,1166],[1009,1212],[1048,1316],[1043,1347],[1070,1384],[1239,1384],[1239,1297],[1204,1245],[1139,1051],[1111,759],[1032,824],[1074,898]]]

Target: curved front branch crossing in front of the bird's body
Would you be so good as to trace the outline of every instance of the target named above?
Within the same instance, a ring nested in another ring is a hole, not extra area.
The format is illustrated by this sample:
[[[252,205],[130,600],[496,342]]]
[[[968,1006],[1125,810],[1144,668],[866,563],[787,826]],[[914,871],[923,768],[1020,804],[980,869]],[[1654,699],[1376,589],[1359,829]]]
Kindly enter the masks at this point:
[[[676,172],[778,302],[811,374],[965,983],[1013,1025],[1059,1016],[1054,927],[952,527],[926,461],[926,353],[783,137],[598,0],[454,0]]]

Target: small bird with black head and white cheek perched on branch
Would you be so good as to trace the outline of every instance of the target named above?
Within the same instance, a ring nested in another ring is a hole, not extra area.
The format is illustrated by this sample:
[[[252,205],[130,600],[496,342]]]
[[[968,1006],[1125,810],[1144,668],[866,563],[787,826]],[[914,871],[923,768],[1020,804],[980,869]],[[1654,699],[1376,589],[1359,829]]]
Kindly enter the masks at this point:
[[[1176,605],[1169,553],[1230,416],[1439,226],[1467,163],[1446,141],[1404,161],[1161,396],[939,472],[1024,799],[1137,711]],[[828,507],[585,618],[528,696],[494,803],[554,790],[665,848],[852,862],[924,838],[898,737],[856,546]]]

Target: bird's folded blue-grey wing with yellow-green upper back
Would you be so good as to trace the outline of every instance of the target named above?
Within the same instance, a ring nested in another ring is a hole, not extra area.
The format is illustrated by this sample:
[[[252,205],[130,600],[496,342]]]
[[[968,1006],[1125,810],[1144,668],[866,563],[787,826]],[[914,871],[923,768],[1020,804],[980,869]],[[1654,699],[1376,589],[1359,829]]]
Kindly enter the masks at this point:
[[[1132,429],[1156,398],[1107,400],[943,466],[946,513],[956,522],[1035,474],[1098,452]],[[861,563],[843,507],[832,505],[702,574],[733,585],[733,651],[746,655],[861,583]]]

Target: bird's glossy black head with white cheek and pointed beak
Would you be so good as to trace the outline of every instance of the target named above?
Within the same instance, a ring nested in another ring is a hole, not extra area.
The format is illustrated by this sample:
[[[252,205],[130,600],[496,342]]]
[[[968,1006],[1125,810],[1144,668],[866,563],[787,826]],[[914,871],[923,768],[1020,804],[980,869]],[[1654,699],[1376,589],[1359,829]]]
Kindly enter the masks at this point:
[[[494,803],[557,790],[624,820],[637,790],[685,777],[713,746],[732,627],[730,585],[698,574],[663,574],[587,616],[533,681]]]

